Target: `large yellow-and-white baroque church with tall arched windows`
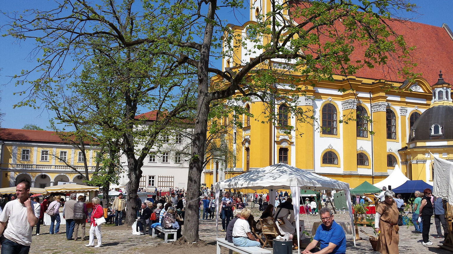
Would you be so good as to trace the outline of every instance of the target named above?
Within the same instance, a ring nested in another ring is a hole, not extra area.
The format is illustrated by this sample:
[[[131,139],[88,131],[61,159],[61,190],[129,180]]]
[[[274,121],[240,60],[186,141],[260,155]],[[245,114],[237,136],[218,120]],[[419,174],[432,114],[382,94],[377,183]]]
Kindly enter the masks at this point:
[[[244,38],[248,48],[247,25],[256,21],[253,10],[260,8],[257,6],[263,6],[258,11],[266,12],[269,4],[266,3],[255,1],[251,5],[251,21],[242,26],[231,25],[234,33]],[[225,101],[246,108],[254,117],[239,116],[243,127],[232,128],[225,135],[233,137],[227,138],[226,143],[236,155],[235,162],[212,159],[204,171],[206,185],[209,187],[246,170],[276,163],[337,179],[349,183],[351,188],[364,181],[377,183],[385,179],[396,165],[409,179],[421,179],[432,184],[431,169],[426,164],[429,149],[423,147],[432,141],[411,141],[410,135],[417,119],[432,106],[433,85],[438,80],[439,69],[443,70],[446,79],[448,76],[453,80],[450,61],[453,59],[453,37],[446,24],[442,27],[414,22],[407,22],[404,27],[399,22],[390,25],[405,36],[408,45],[417,46],[413,52],[414,61],[418,63],[414,72],[422,73],[421,76],[408,83],[407,80],[392,79],[393,76],[387,73],[391,66],[387,66],[388,69],[379,66],[359,70],[355,76],[336,75],[332,82],[312,80],[314,87],[303,90],[297,106],[313,112],[314,121],[299,122],[294,116],[281,113],[285,112],[284,103],[275,102],[278,121],[291,126],[290,134],[273,122],[262,123],[266,121],[263,113],[268,109],[258,98],[244,103]],[[425,42],[417,44],[419,38],[424,38]],[[245,53],[241,45],[230,47],[234,48],[235,55],[223,59],[224,70],[240,68],[242,63],[259,54]],[[283,63],[275,59],[266,64],[278,68]],[[284,86],[284,83],[280,85]],[[299,85],[303,87],[303,84]],[[389,86],[395,89],[389,89]],[[446,93],[449,91],[449,88],[445,90]],[[372,124],[363,117],[371,118]],[[342,122],[347,118],[355,120]],[[229,119],[233,116],[222,121]],[[419,145],[414,145],[414,142]],[[434,151],[435,156],[453,160],[453,140],[446,139],[441,144],[450,148],[438,148]],[[401,150],[406,146],[408,149]]]

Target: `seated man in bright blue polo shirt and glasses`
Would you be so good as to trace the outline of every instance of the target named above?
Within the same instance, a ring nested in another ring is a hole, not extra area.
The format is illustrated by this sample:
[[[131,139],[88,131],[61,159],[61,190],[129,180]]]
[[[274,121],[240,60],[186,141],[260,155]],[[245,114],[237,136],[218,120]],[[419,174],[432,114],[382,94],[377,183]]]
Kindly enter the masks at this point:
[[[316,254],[346,254],[346,235],[343,228],[333,220],[332,210],[327,207],[319,210],[323,224],[318,226],[313,241],[305,248],[303,254],[311,254],[318,242],[321,250]]]

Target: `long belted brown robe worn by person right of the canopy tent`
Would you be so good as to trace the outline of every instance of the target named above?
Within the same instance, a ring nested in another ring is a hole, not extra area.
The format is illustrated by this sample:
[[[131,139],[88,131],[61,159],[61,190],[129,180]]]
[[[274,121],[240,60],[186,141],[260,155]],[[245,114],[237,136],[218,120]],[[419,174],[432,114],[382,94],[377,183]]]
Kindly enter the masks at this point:
[[[381,214],[381,221],[379,221],[381,233],[377,242],[377,251],[382,254],[399,254],[398,216],[400,212],[396,202],[393,201],[391,205],[381,202],[376,208],[376,213]]]

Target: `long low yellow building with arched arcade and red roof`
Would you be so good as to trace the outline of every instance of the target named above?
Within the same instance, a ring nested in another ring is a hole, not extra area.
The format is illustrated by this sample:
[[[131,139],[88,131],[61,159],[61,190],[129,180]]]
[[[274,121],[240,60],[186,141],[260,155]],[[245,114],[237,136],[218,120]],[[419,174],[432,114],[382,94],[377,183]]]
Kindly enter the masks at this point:
[[[85,156],[91,178],[99,149],[87,147]],[[67,164],[85,173],[82,151],[63,142],[54,132],[0,128],[1,188],[24,180],[36,188],[63,182],[85,184],[83,177]]]

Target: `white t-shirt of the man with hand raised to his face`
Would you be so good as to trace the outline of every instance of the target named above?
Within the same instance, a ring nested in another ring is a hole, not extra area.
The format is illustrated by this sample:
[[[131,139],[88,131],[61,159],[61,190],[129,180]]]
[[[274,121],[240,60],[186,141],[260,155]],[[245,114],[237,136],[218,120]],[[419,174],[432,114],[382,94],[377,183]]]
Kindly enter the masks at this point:
[[[34,211],[34,216],[39,218],[39,210],[41,206],[39,203],[32,201],[31,206]],[[19,245],[30,246],[32,227],[27,220],[27,207],[15,199],[6,203],[3,212],[0,215],[1,222],[8,222],[3,235]]]

